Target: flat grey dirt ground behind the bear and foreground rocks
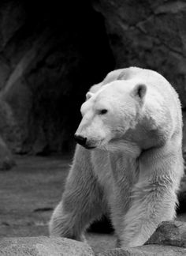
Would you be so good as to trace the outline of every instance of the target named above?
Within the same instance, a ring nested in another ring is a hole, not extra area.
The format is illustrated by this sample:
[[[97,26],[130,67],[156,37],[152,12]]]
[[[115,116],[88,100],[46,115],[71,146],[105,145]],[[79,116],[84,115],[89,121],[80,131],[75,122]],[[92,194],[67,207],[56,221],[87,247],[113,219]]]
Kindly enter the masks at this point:
[[[48,235],[47,223],[60,201],[70,156],[17,156],[17,166],[0,171],[0,238]],[[185,214],[178,220],[186,220]],[[87,234],[95,252],[114,247],[112,234]]]

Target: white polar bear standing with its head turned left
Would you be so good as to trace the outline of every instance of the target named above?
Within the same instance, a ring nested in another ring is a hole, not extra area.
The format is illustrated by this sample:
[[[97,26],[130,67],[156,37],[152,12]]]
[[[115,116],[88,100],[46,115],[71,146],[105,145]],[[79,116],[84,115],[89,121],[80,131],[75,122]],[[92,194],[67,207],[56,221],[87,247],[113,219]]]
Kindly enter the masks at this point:
[[[76,152],[50,235],[76,240],[109,213],[121,247],[143,245],[173,220],[183,175],[177,92],[159,73],[114,70],[81,107]]]

